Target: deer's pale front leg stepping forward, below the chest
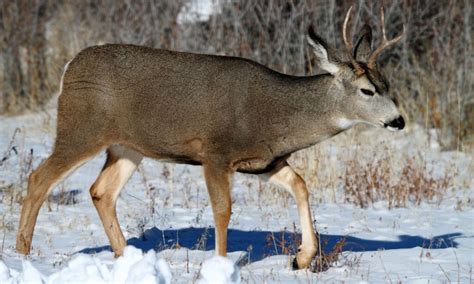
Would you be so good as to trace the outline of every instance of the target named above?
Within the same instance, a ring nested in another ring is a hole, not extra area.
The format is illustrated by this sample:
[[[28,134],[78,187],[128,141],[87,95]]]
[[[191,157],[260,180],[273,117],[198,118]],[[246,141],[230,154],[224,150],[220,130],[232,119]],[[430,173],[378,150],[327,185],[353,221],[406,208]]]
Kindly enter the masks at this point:
[[[296,200],[300,216],[302,244],[298,248],[294,267],[298,269],[307,268],[311,259],[316,254],[318,243],[314,234],[313,221],[308,201],[308,189],[306,183],[287,162],[266,175],[269,181],[286,189]]]

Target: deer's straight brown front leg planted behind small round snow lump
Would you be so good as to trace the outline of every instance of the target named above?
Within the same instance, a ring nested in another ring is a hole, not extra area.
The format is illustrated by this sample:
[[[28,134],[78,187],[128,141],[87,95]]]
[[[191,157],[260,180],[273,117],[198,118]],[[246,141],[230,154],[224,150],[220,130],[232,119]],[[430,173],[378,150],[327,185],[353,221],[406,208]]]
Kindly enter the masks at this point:
[[[204,165],[204,177],[216,225],[216,254],[227,255],[227,226],[231,213],[230,187],[233,171],[226,166]]]

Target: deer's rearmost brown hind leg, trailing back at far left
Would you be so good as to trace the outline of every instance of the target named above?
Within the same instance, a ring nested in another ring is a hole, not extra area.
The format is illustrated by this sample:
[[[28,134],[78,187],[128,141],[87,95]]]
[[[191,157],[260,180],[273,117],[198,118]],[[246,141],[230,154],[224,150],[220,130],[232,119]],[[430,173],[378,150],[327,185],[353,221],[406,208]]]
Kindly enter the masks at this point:
[[[19,253],[30,252],[38,213],[51,189],[102,149],[99,145],[81,147],[83,150],[63,146],[56,145],[53,154],[28,179],[28,191],[23,200],[16,238],[16,250]]]

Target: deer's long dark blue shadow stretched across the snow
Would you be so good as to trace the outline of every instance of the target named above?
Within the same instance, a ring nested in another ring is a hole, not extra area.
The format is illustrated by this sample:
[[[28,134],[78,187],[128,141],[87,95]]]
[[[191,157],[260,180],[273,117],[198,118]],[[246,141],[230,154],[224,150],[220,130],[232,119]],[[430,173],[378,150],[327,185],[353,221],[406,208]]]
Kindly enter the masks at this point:
[[[321,243],[326,244],[326,252],[341,239],[346,240],[343,251],[364,252],[377,250],[393,250],[393,249],[409,249],[415,247],[443,249],[456,248],[458,243],[456,237],[460,237],[461,233],[451,233],[435,236],[431,239],[420,236],[400,235],[398,241],[380,241],[366,240],[351,236],[342,235],[324,235],[321,234]],[[249,254],[250,261],[258,261],[270,255],[282,254],[278,244],[282,241],[285,243],[293,243],[294,233],[288,231],[242,231],[229,229],[228,231],[228,252],[246,251]],[[274,241],[273,241],[274,240]],[[131,238],[127,241],[128,245],[132,245],[143,251],[151,249],[161,251],[167,248],[179,246],[189,249],[214,249],[214,228],[185,228],[185,229],[167,229],[160,230],[156,227],[146,230],[139,238]],[[276,246],[275,246],[276,244]],[[86,248],[80,253],[93,254],[101,251],[111,251],[110,246],[101,246],[95,248]]]

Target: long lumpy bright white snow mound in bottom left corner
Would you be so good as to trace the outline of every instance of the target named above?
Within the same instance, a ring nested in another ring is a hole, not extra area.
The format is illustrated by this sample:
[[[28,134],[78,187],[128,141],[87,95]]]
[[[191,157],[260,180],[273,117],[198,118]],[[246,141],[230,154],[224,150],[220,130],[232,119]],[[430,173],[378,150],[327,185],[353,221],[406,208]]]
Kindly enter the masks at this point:
[[[23,262],[23,271],[17,272],[0,261],[1,283],[171,283],[168,264],[156,252],[143,252],[135,247],[125,248],[109,269],[99,258],[79,254],[67,267],[50,276],[42,275],[29,261]]]

